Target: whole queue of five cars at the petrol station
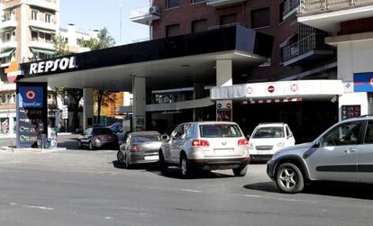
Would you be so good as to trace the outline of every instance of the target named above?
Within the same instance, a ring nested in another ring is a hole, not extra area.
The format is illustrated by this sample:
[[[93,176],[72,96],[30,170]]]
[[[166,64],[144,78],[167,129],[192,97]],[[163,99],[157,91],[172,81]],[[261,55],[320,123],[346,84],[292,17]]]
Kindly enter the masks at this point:
[[[117,142],[108,128],[88,129],[78,139],[80,147],[89,149]],[[127,134],[117,158],[127,168],[159,162],[162,173],[177,166],[184,178],[196,169],[232,169],[235,176],[245,176],[250,158],[269,159],[267,174],[279,190],[298,193],[313,181],[373,183],[372,145],[373,116],[338,122],[300,145],[286,123],[261,123],[248,140],[234,122],[187,122],[170,137],[158,131]]]

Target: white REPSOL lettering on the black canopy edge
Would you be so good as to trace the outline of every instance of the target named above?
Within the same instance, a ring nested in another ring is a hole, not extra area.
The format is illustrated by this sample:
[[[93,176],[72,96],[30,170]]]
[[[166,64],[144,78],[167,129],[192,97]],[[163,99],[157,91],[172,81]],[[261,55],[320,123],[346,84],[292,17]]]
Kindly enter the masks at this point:
[[[38,73],[53,72],[57,69],[66,70],[71,68],[77,68],[77,62],[75,57],[62,58],[55,60],[42,61],[39,63],[32,63],[30,66],[30,75]]]

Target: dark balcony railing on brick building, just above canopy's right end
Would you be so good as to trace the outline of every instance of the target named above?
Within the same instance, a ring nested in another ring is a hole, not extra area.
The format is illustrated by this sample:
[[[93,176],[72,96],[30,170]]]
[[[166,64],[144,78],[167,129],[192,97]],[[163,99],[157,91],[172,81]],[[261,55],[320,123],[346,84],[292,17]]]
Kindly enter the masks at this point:
[[[282,61],[295,59],[312,50],[330,50],[331,48],[324,44],[326,36],[328,35],[324,33],[313,33],[296,43],[283,47]]]

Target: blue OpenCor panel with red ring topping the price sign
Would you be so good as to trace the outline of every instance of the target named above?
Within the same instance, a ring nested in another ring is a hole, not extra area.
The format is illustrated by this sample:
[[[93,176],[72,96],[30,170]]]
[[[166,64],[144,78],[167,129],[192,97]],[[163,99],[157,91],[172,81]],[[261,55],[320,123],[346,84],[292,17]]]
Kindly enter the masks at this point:
[[[18,107],[42,108],[43,107],[42,86],[21,86],[18,93]]]

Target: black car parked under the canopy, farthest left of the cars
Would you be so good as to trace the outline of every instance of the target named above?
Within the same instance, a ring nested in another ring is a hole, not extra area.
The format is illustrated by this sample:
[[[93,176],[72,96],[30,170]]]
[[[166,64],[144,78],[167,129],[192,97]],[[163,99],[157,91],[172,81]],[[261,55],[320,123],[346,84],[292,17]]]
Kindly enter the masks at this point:
[[[87,129],[78,139],[79,149],[99,149],[104,147],[118,148],[118,138],[112,130],[106,127]]]

